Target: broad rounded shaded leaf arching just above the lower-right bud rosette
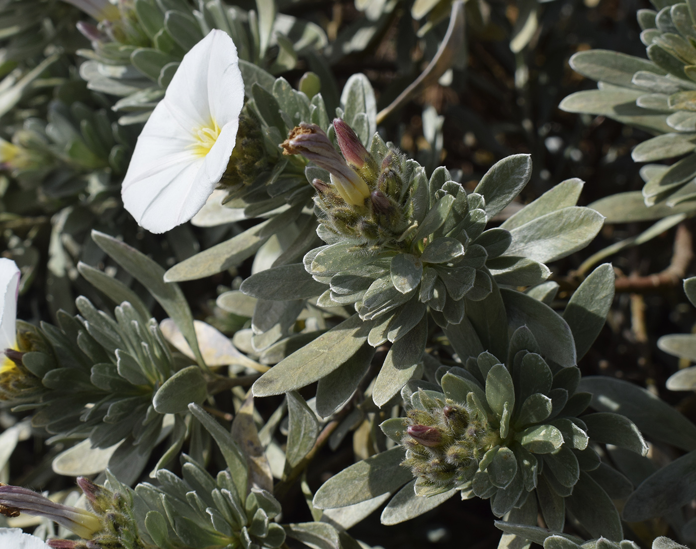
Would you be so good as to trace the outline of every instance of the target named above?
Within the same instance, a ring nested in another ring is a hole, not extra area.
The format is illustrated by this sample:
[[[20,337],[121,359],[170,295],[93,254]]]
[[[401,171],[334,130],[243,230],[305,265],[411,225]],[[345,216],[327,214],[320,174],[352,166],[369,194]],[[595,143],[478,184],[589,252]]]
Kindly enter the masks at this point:
[[[527,326],[546,358],[566,367],[576,364],[575,342],[566,321],[548,305],[526,294],[509,289],[500,293],[507,305],[510,326]]]

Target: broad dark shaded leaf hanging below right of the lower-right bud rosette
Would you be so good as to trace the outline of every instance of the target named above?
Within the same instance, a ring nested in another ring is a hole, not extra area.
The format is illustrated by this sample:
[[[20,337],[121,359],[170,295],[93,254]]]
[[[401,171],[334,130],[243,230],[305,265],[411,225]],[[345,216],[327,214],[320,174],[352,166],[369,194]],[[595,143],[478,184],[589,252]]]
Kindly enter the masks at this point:
[[[569,511],[592,537],[606,537],[613,541],[623,539],[624,532],[616,507],[587,472],[580,472],[580,480],[565,501]]]

